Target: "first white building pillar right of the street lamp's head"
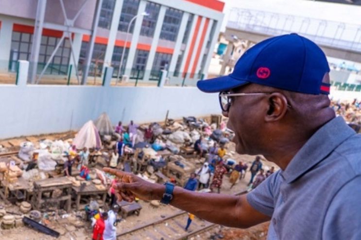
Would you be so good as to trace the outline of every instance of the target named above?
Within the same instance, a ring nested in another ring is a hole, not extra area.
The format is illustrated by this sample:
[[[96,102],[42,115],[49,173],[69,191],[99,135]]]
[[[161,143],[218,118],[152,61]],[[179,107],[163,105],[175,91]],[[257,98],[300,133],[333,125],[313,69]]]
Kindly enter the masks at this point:
[[[149,50],[147,64],[145,66],[145,72],[144,72],[143,80],[149,80],[149,76],[151,74],[151,70],[152,70],[152,67],[153,67],[153,61],[154,61],[154,57],[155,57],[155,51],[156,51],[156,48],[158,46],[159,35],[160,35],[160,31],[162,30],[162,25],[163,25],[164,16],[166,14],[166,10],[167,10],[167,7],[165,7],[163,5],[160,6],[158,19],[157,19],[156,24],[155,24],[155,30],[154,30],[152,45],[151,45],[151,49]]]

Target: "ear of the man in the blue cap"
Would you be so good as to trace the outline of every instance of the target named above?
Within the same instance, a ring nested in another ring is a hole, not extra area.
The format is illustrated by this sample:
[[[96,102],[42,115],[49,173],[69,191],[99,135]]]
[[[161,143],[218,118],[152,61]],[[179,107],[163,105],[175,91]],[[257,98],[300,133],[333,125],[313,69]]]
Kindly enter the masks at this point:
[[[283,118],[287,112],[287,99],[280,93],[270,94],[268,97],[268,110],[265,116],[266,122],[274,122]]]

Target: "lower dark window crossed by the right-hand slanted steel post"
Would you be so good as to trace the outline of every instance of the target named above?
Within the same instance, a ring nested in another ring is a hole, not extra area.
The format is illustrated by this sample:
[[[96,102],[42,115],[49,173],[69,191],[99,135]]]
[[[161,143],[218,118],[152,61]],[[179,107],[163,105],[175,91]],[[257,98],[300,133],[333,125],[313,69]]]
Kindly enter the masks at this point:
[[[80,50],[79,56],[79,65],[78,68],[83,70],[85,61],[86,61],[86,51],[88,48],[88,42],[83,41],[82,47]],[[94,44],[93,56],[91,58],[91,63],[89,67],[89,76],[101,76],[104,64],[104,54],[106,50],[106,45],[104,44]]]

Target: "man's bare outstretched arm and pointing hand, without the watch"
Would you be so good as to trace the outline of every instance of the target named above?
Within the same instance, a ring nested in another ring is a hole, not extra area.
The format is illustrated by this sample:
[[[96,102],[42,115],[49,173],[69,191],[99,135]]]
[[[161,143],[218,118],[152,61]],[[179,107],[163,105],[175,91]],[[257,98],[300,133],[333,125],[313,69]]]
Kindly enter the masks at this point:
[[[133,201],[135,197],[161,200],[163,196],[164,185],[150,183],[116,169],[104,168],[104,171],[120,178],[115,187],[118,200]],[[246,228],[270,220],[269,216],[248,204],[246,195],[199,193],[175,187],[171,205],[206,221],[231,227]]]

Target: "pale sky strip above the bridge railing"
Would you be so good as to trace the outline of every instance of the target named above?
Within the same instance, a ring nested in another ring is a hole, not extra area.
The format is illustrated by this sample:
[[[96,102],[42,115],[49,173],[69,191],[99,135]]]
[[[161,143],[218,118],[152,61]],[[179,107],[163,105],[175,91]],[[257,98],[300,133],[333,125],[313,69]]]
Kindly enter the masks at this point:
[[[232,8],[254,9],[266,12],[305,16],[330,21],[361,25],[361,6],[312,0],[222,0],[225,14],[221,32],[224,32]]]

